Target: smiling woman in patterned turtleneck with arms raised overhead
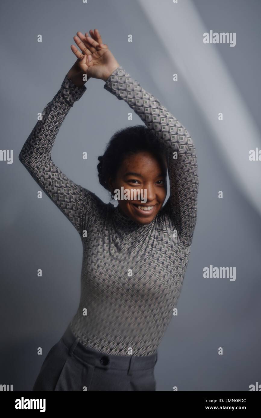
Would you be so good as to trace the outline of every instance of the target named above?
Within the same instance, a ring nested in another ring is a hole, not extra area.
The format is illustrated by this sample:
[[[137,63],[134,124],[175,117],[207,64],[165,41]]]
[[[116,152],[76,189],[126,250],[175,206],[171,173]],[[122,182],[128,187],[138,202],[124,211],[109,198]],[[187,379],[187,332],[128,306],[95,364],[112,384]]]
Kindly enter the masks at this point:
[[[77,35],[81,52],[71,46],[77,61],[19,155],[83,243],[78,311],[47,354],[33,390],[151,391],[157,349],[181,292],[196,224],[195,146],[158,99],[119,65],[97,29]],[[51,159],[62,121],[86,90],[84,74],[103,80],[146,125],[117,131],[99,157],[101,185],[112,197],[127,191],[116,208],[67,178]],[[167,170],[170,198],[163,206]],[[145,198],[131,191],[143,191]]]

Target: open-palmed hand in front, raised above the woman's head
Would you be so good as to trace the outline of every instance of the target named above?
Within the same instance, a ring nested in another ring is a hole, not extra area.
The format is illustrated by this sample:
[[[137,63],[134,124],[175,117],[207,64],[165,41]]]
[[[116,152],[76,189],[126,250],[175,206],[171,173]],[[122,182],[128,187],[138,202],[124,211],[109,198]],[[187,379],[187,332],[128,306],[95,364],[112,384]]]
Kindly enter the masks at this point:
[[[105,82],[120,64],[116,61],[108,46],[102,43],[98,29],[90,30],[92,37],[88,36],[88,33],[85,33],[84,36],[81,32],[77,32],[77,35],[73,39],[81,52],[75,45],[71,45],[72,52],[77,57],[75,64],[80,68],[81,74],[87,74],[88,79],[93,77]],[[67,75],[70,78],[69,73]]]

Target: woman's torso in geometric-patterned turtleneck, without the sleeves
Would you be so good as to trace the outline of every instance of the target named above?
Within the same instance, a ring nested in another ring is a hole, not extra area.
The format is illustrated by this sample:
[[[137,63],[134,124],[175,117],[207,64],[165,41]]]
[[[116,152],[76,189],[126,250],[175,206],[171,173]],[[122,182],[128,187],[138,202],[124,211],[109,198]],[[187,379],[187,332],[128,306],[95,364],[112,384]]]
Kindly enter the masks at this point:
[[[83,238],[80,304],[70,324],[77,339],[106,354],[153,354],[173,315],[189,255],[163,210],[137,227],[106,205]]]

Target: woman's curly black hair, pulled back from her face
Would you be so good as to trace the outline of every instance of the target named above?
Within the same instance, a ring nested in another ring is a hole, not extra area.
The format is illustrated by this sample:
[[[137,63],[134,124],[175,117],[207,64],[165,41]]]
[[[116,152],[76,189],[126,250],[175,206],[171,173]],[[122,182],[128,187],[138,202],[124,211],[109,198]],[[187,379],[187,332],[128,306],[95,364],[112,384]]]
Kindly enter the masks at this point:
[[[140,151],[150,152],[160,163],[163,173],[165,172],[165,163],[168,166],[168,150],[166,147],[160,143],[147,126],[128,126],[114,133],[106,146],[104,154],[98,157],[97,169],[100,184],[111,193],[108,176],[114,179],[124,158]]]

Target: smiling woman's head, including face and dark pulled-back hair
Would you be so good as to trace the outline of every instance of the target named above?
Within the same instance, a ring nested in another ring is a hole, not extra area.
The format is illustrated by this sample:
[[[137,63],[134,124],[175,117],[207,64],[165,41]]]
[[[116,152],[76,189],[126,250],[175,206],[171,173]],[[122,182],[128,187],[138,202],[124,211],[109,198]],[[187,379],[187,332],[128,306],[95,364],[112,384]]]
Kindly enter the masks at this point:
[[[152,222],[167,194],[167,148],[146,126],[135,125],[118,130],[99,159],[99,181],[119,201],[121,214],[140,224]]]

